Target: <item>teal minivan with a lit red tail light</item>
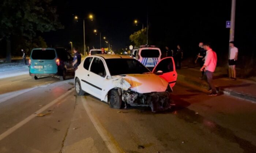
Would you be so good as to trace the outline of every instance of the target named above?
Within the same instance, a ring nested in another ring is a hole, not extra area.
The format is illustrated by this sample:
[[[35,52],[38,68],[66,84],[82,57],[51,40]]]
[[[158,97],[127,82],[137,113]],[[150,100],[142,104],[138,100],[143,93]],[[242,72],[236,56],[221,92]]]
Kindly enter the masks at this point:
[[[40,76],[59,76],[64,80],[74,75],[73,58],[65,48],[34,48],[29,60],[29,75],[34,79]]]

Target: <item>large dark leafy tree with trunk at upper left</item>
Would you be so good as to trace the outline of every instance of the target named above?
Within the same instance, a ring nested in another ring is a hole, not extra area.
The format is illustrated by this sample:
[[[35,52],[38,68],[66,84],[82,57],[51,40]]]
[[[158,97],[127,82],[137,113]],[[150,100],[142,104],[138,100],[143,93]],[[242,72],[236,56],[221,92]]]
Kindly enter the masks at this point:
[[[6,41],[6,60],[11,61],[13,36],[32,39],[37,32],[63,28],[52,0],[2,0],[0,2],[0,41]]]

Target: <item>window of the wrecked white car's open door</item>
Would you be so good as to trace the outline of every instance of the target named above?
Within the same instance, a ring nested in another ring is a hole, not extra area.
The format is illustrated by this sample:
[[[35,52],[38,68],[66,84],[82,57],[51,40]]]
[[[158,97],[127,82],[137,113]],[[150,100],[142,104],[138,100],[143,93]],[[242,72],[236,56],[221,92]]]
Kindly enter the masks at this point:
[[[155,72],[163,71],[163,73],[172,72],[173,71],[173,60],[172,58],[163,59],[161,62],[158,63],[157,67],[155,68]]]

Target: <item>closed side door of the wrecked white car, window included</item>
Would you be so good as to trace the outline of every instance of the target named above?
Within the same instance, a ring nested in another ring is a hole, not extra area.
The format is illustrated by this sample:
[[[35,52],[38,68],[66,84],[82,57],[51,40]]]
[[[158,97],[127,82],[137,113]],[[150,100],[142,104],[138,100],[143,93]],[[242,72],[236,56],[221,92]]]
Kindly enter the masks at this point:
[[[89,85],[91,95],[101,99],[104,81],[106,81],[106,68],[100,58],[94,58],[91,62],[90,73],[87,75],[86,83]]]

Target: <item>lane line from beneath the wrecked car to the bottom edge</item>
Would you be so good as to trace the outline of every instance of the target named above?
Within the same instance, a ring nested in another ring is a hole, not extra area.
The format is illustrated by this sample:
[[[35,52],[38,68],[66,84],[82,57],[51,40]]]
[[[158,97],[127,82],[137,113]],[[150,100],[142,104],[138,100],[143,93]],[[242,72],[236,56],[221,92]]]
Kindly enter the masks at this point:
[[[107,130],[103,127],[103,125],[99,122],[98,118],[93,114],[93,111],[90,109],[90,106],[87,104],[86,99],[81,98],[83,102],[84,109],[86,110],[87,115],[93,122],[95,129],[98,131],[102,140],[105,142],[111,153],[123,153],[123,150],[117,145],[117,142],[109,136]]]

